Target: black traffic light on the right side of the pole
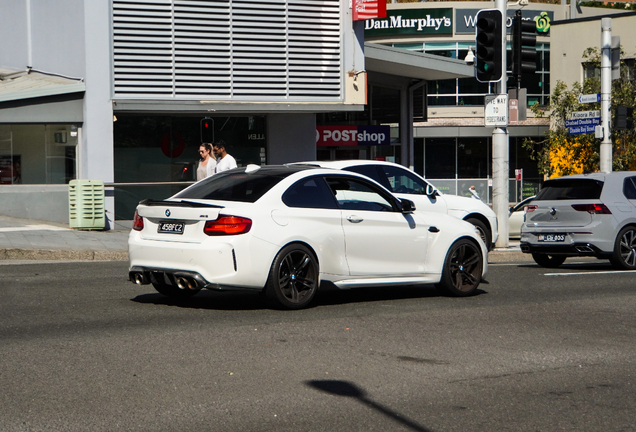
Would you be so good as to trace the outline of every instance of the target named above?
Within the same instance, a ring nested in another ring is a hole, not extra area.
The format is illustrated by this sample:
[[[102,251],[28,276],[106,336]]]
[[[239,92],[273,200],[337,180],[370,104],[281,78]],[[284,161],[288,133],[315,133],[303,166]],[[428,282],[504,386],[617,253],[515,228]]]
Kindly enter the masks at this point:
[[[512,75],[521,82],[521,75],[537,70],[537,24],[523,20],[521,11],[512,20]]]

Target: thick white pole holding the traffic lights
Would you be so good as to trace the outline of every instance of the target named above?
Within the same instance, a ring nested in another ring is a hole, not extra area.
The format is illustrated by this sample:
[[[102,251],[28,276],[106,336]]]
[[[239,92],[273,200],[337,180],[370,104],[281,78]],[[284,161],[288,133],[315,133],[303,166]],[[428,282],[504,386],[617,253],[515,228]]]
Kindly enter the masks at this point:
[[[495,84],[495,92],[497,94],[507,93],[506,83],[506,0],[495,0],[495,9],[501,11],[502,16],[502,28],[501,37],[503,38],[502,46],[502,65],[501,65],[501,80]],[[507,116],[506,116],[507,118]],[[495,127],[492,131],[492,204],[493,211],[497,215],[497,225],[499,238],[497,239],[496,247],[507,248],[509,241],[509,227],[508,227],[508,206],[509,206],[509,185],[508,185],[508,172],[509,172],[509,135],[508,127],[500,126]]]

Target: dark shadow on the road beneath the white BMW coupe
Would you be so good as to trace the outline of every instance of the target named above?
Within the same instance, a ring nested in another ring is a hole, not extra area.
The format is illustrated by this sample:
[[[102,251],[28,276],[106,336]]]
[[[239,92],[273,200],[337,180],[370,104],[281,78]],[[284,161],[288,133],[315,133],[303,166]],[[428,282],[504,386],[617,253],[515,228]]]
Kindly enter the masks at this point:
[[[486,294],[477,289],[473,296]],[[339,306],[353,303],[373,303],[392,300],[415,300],[426,298],[451,298],[450,294],[435,288],[433,285],[417,285],[404,287],[373,287],[353,288],[341,290],[329,284],[323,284],[316,293],[316,297],[305,309],[318,306]],[[460,299],[457,299],[460,300]],[[175,299],[162,294],[151,292],[140,294],[131,301],[141,304],[176,306],[190,309],[208,310],[271,310],[281,309],[271,303],[263,294],[255,291],[209,291],[201,290],[193,297]]]

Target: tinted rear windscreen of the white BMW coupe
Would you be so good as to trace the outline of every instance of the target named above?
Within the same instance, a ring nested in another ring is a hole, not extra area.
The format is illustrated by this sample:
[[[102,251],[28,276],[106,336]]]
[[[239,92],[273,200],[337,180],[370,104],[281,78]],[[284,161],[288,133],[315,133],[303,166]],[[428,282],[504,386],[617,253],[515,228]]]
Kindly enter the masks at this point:
[[[244,169],[226,171],[192,185],[174,198],[253,203],[278,182],[297,171],[299,170],[289,168],[260,169],[249,173]]]

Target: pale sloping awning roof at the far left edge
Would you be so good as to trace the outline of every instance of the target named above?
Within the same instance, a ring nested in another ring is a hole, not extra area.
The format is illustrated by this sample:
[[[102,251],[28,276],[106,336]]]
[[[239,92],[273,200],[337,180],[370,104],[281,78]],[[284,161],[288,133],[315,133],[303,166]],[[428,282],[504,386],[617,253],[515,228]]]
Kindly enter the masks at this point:
[[[33,70],[0,69],[0,102],[86,91],[81,79],[64,78]]]

